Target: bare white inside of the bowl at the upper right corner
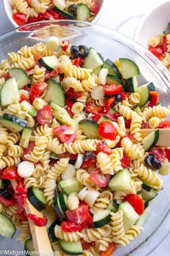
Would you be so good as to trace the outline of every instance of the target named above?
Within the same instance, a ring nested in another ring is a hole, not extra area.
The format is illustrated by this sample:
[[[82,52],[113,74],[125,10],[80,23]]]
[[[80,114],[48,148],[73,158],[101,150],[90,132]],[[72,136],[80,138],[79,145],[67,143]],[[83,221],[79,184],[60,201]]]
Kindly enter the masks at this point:
[[[156,35],[161,35],[169,25],[170,1],[155,7],[146,14],[135,31],[134,39],[144,47],[148,47],[148,41]]]

